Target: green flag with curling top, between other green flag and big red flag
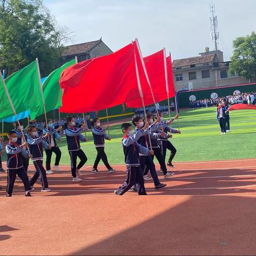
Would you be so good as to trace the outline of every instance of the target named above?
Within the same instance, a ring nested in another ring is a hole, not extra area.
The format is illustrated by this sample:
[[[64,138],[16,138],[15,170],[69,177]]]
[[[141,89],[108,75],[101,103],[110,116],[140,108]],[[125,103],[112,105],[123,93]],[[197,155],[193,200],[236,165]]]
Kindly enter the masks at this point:
[[[59,79],[62,71],[71,66],[75,65],[76,60],[70,60],[60,68],[55,69],[43,82],[43,94],[45,101],[46,113],[57,109],[61,106],[62,90],[60,89]],[[42,101],[41,101],[42,102]],[[30,118],[35,119],[39,115],[44,114],[44,107],[30,109]]]

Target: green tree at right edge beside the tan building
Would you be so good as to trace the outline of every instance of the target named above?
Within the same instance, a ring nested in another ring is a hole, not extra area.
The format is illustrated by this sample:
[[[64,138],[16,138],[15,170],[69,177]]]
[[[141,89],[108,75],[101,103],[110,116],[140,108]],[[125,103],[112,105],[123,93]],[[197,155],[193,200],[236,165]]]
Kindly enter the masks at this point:
[[[229,65],[230,75],[247,79],[256,77],[256,34],[238,37],[233,41],[234,52]]]

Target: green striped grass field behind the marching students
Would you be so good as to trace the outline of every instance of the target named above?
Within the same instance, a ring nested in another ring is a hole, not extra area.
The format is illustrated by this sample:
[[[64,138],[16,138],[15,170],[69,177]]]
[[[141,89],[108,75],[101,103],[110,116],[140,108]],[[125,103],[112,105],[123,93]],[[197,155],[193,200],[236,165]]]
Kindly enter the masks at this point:
[[[180,112],[181,134],[173,134],[170,139],[177,148],[173,162],[211,161],[256,157],[256,111],[237,110],[230,112],[231,132],[220,135],[220,127],[215,118],[215,107],[186,110]],[[106,141],[105,150],[110,164],[123,164],[121,125],[110,127],[111,141]],[[172,127],[177,128],[174,121]],[[88,142],[81,146],[92,165],[96,156],[92,132],[87,132]],[[62,151],[61,164],[69,164],[66,138],[59,142]],[[54,155],[53,155],[54,156]],[[169,157],[167,152],[166,158]],[[4,157],[5,159],[5,157]],[[52,160],[52,164],[54,164]],[[102,164],[100,162],[100,164]]]

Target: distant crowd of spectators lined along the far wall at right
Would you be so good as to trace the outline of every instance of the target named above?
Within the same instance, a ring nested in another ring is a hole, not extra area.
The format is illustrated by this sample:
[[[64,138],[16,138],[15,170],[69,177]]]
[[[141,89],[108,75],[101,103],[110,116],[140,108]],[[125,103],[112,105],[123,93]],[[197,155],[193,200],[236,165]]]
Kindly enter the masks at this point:
[[[229,102],[230,105],[237,103],[255,105],[256,104],[256,92],[243,92],[236,93],[235,95],[229,95],[226,97],[217,97],[214,99],[201,99],[201,100],[190,100],[190,108],[207,108],[207,107],[217,107],[219,102],[225,100]]]

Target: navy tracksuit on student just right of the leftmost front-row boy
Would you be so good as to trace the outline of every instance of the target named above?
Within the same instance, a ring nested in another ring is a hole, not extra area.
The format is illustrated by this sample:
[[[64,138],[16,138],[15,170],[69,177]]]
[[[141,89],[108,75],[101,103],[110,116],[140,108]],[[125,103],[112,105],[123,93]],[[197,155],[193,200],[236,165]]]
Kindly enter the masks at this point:
[[[38,177],[40,176],[42,188],[49,188],[48,181],[46,177],[46,171],[43,166],[43,148],[48,149],[49,144],[44,141],[42,137],[39,138],[28,138],[28,145],[31,155],[33,155],[32,161],[36,168],[36,172],[34,176],[31,178],[29,182],[29,186],[33,187]]]

